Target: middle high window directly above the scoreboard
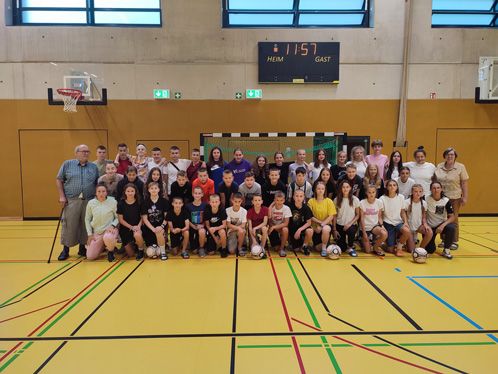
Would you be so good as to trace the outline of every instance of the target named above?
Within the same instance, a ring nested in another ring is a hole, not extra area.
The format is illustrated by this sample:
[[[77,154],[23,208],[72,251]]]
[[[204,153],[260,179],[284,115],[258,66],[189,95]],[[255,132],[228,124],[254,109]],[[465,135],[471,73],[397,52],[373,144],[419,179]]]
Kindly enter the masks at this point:
[[[371,0],[223,0],[223,27],[369,27]]]

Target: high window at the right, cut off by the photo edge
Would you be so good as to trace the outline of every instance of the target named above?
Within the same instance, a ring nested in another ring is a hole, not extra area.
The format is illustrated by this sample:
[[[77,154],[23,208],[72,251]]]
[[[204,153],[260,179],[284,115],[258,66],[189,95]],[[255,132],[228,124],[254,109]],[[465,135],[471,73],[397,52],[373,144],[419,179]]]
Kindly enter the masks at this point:
[[[498,28],[498,0],[432,0],[432,27]]]

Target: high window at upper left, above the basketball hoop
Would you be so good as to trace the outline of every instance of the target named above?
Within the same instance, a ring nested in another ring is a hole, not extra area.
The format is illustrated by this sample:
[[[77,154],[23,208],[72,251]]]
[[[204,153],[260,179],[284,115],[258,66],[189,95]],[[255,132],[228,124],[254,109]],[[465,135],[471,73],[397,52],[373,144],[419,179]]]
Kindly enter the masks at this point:
[[[160,27],[161,0],[13,0],[17,25]]]

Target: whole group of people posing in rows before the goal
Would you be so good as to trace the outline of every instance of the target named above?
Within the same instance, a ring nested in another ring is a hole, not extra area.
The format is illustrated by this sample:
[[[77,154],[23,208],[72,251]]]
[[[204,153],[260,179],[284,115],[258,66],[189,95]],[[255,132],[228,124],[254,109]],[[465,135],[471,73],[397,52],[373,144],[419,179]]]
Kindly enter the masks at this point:
[[[81,144],[56,177],[61,215],[60,261],[78,246],[88,260],[116,254],[136,260],[219,255],[262,259],[273,250],[324,258],[403,257],[416,248],[451,259],[458,249],[458,215],[467,203],[469,175],[453,148],[437,165],[423,146],[403,161],[383,142],[367,154],[354,146],[337,153],[298,149],[293,162],[277,151],[254,160],[220,147],[202,160],[124,143],[115,157],[105,146]],[[438,240],[440,238],[440,240]]]

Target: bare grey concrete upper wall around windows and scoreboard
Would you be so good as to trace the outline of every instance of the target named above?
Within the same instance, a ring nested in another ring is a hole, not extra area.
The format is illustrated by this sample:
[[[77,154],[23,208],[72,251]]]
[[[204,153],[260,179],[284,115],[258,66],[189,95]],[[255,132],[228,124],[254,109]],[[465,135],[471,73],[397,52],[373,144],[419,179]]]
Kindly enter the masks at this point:
[[[472,98],[479,56],[498,55],[498,32],[431,29],[431,0],[412,0],[409,98]],[[263,85],[265,99],[397,99],[403,0],[376,0],[369,29],[223,29],[221,0],[164,0],[162,28],[5,26],[0,12],[0,99],[43,99],[71,69],[98,76],[110,99],[233,99],[256,88],[258,41],[341,42],[341,83]],[[55,62],[57,65],[50,64]]]

